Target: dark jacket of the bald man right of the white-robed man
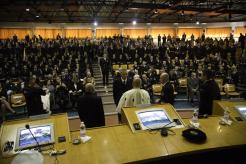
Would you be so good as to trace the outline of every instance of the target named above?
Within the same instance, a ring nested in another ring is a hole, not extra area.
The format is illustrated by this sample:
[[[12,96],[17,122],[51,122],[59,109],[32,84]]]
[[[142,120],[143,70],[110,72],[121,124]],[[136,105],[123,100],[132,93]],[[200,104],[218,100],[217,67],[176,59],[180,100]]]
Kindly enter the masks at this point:
[[[174,88],[170,82],[167,82],[162,87],[161,102],[170,103],[172,105],[174,103]]]

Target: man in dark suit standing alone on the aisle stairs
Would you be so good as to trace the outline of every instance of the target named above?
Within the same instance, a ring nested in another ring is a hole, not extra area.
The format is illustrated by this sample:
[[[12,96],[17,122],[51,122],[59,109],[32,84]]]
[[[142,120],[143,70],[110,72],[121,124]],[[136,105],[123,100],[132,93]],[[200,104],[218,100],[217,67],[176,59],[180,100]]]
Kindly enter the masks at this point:
[[[107,58],[107,54],[104,54],[104,57],[100,60],[100,66],[103,74],[103,85],[106,88],[106,86],[108,85],[108,75],[110,70],[110,62]]]

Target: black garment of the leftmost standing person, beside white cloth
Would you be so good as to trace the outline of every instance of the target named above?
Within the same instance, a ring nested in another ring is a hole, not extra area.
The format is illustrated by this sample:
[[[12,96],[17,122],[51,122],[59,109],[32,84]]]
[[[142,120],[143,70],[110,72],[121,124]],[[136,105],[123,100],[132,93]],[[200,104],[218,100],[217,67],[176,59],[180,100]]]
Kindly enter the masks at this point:
[[[45,91],[41,88],[25,88],[24,95],[26,98],[28,115],[39,115],[46,113],[43,110],[41,95],[45,95]]]

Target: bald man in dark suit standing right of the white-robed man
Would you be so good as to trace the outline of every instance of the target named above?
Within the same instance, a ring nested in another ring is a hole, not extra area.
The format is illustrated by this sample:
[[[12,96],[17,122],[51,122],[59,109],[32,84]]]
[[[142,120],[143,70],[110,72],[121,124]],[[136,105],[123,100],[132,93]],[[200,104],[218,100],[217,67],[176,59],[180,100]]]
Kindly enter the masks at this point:
[[[160,82],[163,85],[161,90],[161,102],[174,103],[174,88],[169,82],[169,75],[167,73],[162,73],[160,75]]]

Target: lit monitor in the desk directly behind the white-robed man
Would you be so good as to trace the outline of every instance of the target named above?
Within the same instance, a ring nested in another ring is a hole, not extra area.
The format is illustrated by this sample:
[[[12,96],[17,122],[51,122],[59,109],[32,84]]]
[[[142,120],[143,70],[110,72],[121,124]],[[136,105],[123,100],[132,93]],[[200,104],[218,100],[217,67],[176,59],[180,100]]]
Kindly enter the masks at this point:
[[[172,120],[163,109],[145,109],[136,111],[136,114],[142,130],[160,129],[164,126],[173,126],[171,125]]]

